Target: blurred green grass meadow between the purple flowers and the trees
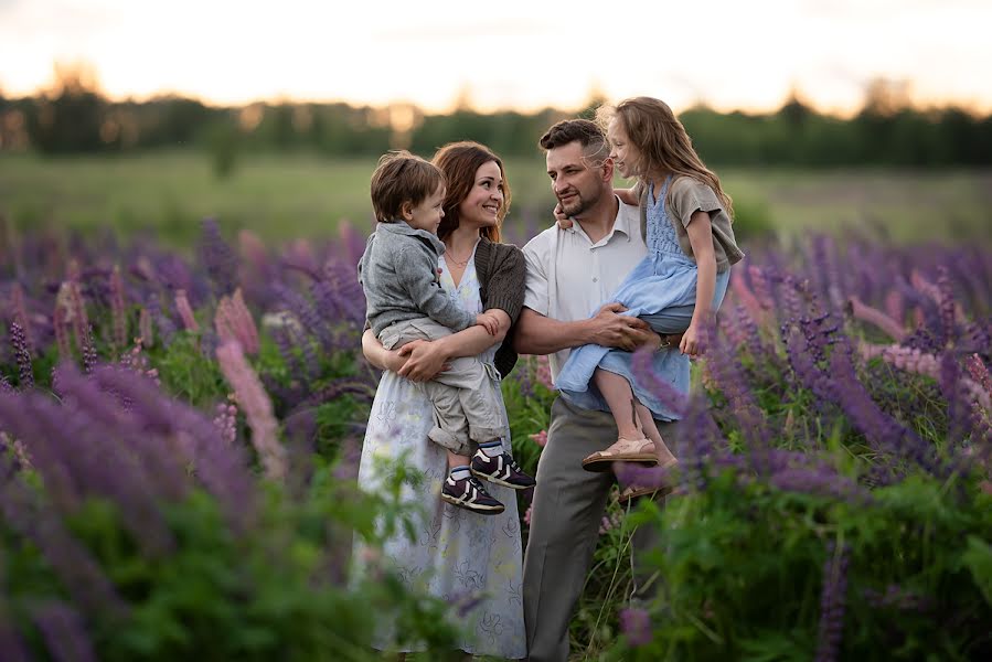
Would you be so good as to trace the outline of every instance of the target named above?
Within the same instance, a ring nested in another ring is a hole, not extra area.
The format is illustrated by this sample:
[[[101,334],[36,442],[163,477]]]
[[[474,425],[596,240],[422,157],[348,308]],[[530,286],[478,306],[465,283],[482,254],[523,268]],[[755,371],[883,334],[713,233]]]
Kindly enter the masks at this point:
[[[234,174],[214,177],[205,153],[175,151],[49,160],[0,156],[0,214],[20,228],[151,229],[189,245],[199,221],[225,233],[250,228],[266,241],[331,236],[339,221],[371,226],[369,177],[374,159],[244,154]],[[511,224],[543,226],[554,204],[543,159],[508,160]],[[984,237],[992,172],[718,169],[742,209],[767,214],[782,235],[843,232],[878,224],[893,239]]]

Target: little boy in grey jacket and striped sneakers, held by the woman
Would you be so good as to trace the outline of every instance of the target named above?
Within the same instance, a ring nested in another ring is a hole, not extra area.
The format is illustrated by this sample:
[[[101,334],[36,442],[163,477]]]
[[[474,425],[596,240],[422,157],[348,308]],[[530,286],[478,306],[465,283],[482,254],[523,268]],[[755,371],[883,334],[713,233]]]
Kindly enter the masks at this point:
[[[495,334],[499,322],[493,314],[470,314],[440,287],[441,171],[409,152],[391,152],[380,159],[371,189],[378,223],[359,263],[359,281],[365,292],[365,317],[383,346],[392,350],[414,340],[437,340],[472,324]],[[502,450],[506,429],[499,401],[486,388],[465,387],[486,383],[483,376],[481,362],[462,357],[422,386],[435,410],[428,437],[448,450],[451,480],[445,481],[441,499],[473,512],[498,514],[503,504],[476,477],[518,490],[533,485],[534,479]]]

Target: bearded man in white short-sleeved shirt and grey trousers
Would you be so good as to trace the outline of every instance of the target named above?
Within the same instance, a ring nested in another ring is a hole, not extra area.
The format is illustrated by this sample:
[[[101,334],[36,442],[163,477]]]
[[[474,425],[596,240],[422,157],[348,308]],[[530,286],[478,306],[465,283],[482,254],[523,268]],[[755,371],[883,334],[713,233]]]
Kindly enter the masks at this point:
[[[644,257],[638,207],[614,194],[614,164],[602,131],[594,122],[561,121],[540,140],[547,174],[562,211],[574,221],[557,225],[524,246],[527,285],[514,335],[521,354],[550,354],[552,377],[572,348],[595,343],[633,351],[659,348],[662,339],[643,321],[618,314],[618,303],[595,310]],[[674,424],[658,421],[665,438]],[[547,445],[537,466],[537,488],[524,556],[524,620],[531,662],[565,662],[572,619],[598,540],[614,482],[582,460],[617,439],[608,412],[580,409],[558,397],[552,405]],[[650,532],[634,546],[650,545]]]

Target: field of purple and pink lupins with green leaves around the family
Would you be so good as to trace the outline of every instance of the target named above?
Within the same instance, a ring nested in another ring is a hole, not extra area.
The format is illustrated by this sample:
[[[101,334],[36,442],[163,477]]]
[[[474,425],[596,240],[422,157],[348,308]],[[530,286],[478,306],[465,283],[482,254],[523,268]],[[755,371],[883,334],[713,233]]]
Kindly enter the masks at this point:
[[[442,659],[471,595],[348,574],[416,478],[355,485],[363,234],[2,229],[0,660],[376,660],[385,617]],[[992,250],[748,248],[692,396],[641,371],[691,434],[678,476],[637,478],[679,487],[610,504],[574,658],[992,659]],[[504,393],[533,471],[546,361]],[[634,525],[662,542],[630,605]]]

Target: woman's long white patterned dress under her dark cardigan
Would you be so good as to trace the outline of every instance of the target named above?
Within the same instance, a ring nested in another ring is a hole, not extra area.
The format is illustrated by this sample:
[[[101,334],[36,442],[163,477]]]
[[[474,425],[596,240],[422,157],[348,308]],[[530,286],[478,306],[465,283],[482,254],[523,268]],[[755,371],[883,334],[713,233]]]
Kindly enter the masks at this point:
[[[481,312],[474,254],[458,287],[455,287],[444,259],[441,256],[441,286],[448,296],[469,312]],[[495,348],[492,348],[483,352],[480,359],[488,364],[494,377],[493,387],[505,421],[499,373],[492,365],[494,355]],[[374,488],[384,478],[382,465],[376,458],[395,460],[403,457],[407,469],[422,472],[426,480],[404,494],[404,502],[423,511],[415,540],[410,541],[403,533],[397,534],[386,544],[385,557],[395,564],[408,585],[426,586],[431,595],[452,605],[482,598],[467,615],[455,616],[468,626],[460,645],[463,651],[513,660],[524,658],[523,551],[516,493],[486,483],[489,493],[506,506],[499,515],[480,515],[441,501],[441,483],[447,478],[448,463],[445,449],[427,438],[433,425],[430,402],[424,393],[413,382],[386,371],[372,403],[359,467],[359,484],[366,489]],[[509,451],[510,439],[504,439],[503,444]],[[356,545],[356,557],[362,556],[360,547]],[[412,650],[393,644],[390,631],[388,624],[384,624],[375,642],[376,648]]]

